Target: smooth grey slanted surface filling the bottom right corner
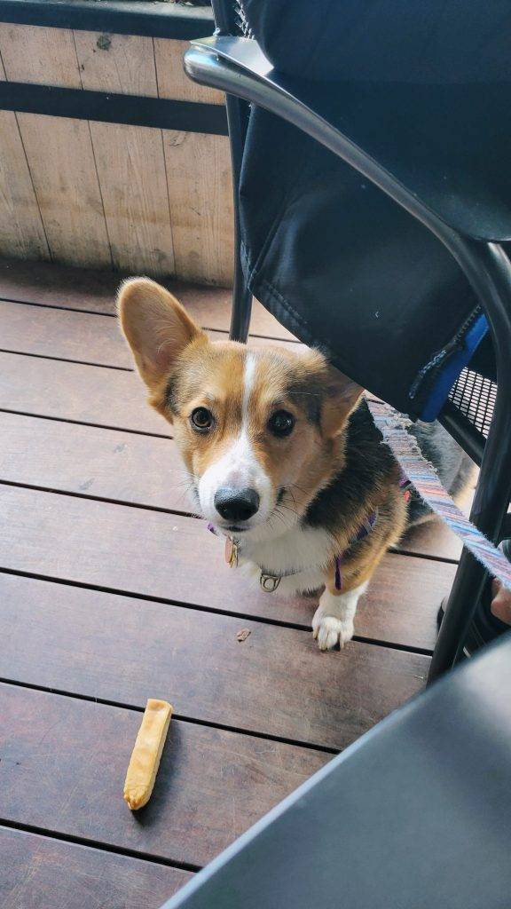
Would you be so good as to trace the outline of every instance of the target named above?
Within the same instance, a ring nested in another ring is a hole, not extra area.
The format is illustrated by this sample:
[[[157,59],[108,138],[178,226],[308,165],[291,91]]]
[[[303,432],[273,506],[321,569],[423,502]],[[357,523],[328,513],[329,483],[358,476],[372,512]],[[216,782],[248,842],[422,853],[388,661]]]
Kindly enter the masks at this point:
[[[511,634],[378,724],[165,909],[508,909]]]

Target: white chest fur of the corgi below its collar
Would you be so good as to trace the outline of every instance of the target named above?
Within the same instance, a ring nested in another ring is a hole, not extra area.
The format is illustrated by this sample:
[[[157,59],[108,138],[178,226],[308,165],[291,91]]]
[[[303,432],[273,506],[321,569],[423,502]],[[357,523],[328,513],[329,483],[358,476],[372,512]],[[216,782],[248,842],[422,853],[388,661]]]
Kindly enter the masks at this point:
[[[332,557],[332,537],[326,530],[296,525],[267,541],[242,541],[239,565],[256,581],[261,573],[280,577],[279,594],[317,590],[325,583],[322,572]]]

